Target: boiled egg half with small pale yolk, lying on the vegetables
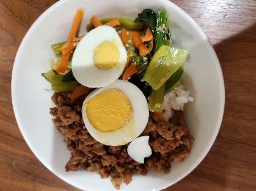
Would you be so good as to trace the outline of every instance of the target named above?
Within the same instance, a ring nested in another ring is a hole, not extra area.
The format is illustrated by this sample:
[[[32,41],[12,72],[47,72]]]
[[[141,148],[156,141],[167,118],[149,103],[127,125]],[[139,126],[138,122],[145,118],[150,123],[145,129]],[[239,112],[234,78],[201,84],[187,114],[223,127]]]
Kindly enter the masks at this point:
[[[100,88],[120,77],[126,60],[125,47],[115,29],[99,26],[79,42],[71,66],[79,83],[89,88]]]

